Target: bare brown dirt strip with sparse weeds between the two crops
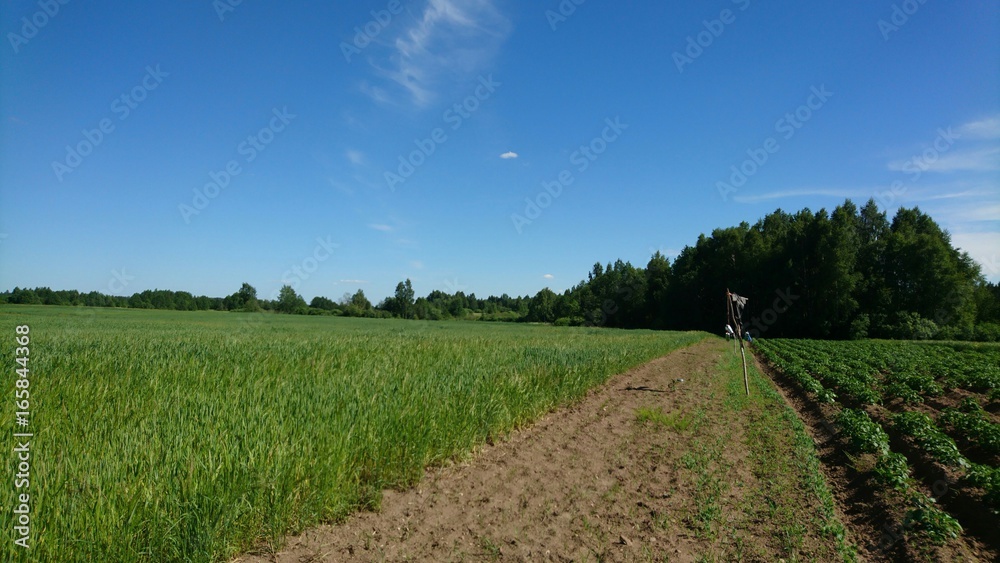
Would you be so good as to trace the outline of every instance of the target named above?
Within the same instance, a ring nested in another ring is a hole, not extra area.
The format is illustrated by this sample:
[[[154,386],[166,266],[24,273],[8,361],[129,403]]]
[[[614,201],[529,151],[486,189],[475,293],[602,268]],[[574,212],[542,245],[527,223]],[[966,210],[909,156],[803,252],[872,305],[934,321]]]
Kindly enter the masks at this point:
[[[470,462],[386,491],[378,513],[241,561],[825,559],[812,536],[790,547],[768,528],[780,517],[755,496],[765,485],[738,447],[744,424],[711,410],[731,384],[718,376],[726,353],[709,339],[617,375]]]

